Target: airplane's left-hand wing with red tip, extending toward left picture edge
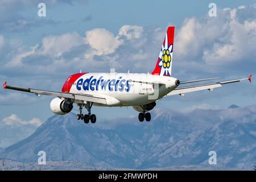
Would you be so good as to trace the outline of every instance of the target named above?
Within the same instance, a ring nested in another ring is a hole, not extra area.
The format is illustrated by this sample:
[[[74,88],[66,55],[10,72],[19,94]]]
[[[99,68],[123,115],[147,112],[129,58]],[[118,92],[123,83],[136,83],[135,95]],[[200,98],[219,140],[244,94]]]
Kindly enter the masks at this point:
[[[106,99],[100,96],[93,96],[93,94],[73,94],[73,93],[65,93],[65,92],[52,92],[47,90],[38,90],[38,89],[31,89],[31,88],[22,88],[17,86],[10,86],[3,84],[3,88],[11,89],[11,90],[18,90],[22,92],[30,92],[35,93],[37,96],[47,95],[47,96],[57,96],[59,98],[71,98],[73,100],[78,101],[88,101],[88,102],[95,102],[100,104],[106,104]]]

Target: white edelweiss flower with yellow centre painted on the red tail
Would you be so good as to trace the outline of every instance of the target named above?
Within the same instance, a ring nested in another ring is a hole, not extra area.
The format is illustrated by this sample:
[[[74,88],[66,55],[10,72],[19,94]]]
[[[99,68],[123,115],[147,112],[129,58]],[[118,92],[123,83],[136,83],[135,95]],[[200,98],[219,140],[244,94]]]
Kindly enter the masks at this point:
[[[162,50],[159,54],[159,67],[161,67],[160,75],[171,76],[171,61],[172,61],[172,44],[168,46],[168,36],[166,34],[166,39],[164,46],[162,45]]]

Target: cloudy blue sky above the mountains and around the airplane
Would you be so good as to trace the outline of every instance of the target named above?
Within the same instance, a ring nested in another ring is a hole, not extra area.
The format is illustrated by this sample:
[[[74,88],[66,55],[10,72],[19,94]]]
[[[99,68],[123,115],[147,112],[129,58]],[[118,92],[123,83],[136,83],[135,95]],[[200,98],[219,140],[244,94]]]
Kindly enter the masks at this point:
[[[46,3],[45,18],[38,17],[39,2]],[[152,71],[168,25],[176,26],[172,73],[180,80],[255,75],[255,1],[214,1],[217,17],[211,18],[210,2],[0,1],[0,11],[5,14],[0,18],[0,80],[60,90],[65,79],[80,69]],[[1,88],[0,128],[18,120],[16,127],[32,132],[39,121],[52,115],[52,98]],[[232,104],[253,105],[255,100],[255,82],[242,82],[215,92],[164,98],[158,107],[221,109]],[[94,107],[93,113],[99,122],[138,114],[132,108],[105,107]]]

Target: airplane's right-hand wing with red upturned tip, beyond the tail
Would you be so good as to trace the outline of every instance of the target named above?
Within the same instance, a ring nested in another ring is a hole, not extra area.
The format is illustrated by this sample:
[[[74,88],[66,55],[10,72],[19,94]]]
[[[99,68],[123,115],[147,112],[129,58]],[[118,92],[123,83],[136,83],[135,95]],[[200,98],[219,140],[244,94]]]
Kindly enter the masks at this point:
[[[240,78],[240,79],[237,79],[237,80],[214,82],[214,83],[203,84],[203,85],[183,86],[183,87],[180,87],[180,88],[178,87],[178,88],[172,90],[172,92],[168,93],[167,96],[173,96],[173,95],[177,95],[177,94],[180,94],[181,96],[184,96],[185,93],[196,92],[196,91],[199,91],[199,90],[213,91],[214,88],[221,87],[222,85],[231,84],[231,83],[234,83],[234,82],[240,82],[240,81],[243,81],[243,80],[249,80],[251,82],[251,75],[248,78]],[[189,81],[187,81],[187,82],[189,82]],[[191,81],[191,82],[195,82],[195,81]]]

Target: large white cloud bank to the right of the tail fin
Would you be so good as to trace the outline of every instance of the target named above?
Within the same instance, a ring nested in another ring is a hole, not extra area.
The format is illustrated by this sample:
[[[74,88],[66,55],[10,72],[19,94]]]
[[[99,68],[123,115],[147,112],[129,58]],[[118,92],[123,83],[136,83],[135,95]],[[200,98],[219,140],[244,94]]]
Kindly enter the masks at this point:
[[[183,66],[195,62],[212,67],[214,71],[228,63],[253,59],[256,56],[256,16],[251,9],[256,11],[253,6],[241,6],[220,10],[214,18],[185,20],[176,31],[175,58],[178,57]],[[247,10],[251,16],[245,14]]]

